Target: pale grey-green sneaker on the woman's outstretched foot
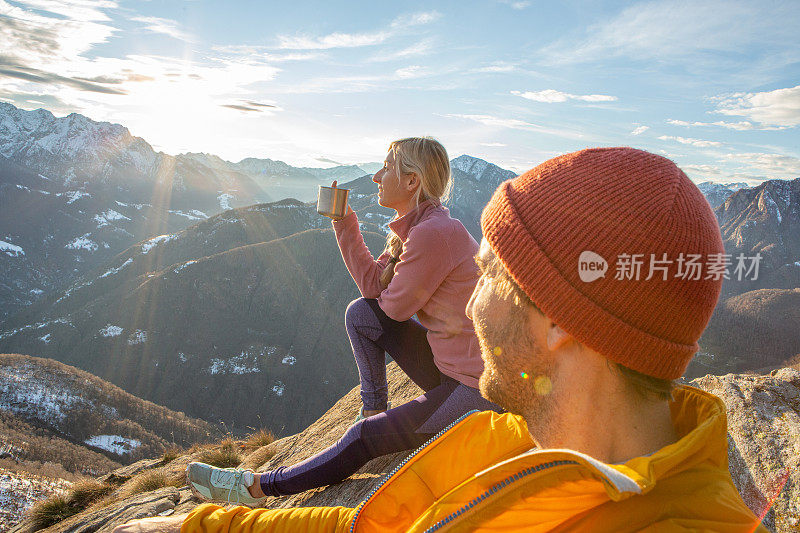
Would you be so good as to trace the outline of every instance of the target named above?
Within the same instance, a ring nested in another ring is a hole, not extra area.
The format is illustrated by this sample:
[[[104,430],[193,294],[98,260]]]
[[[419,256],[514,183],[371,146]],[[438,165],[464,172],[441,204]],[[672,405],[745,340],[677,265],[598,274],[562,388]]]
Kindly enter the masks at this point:
[[[247,487],[255,481],[252,470],[217,468],[205,463],[189,463],[186,481],[198,498],[260,507],[267,497],[253,498]]]

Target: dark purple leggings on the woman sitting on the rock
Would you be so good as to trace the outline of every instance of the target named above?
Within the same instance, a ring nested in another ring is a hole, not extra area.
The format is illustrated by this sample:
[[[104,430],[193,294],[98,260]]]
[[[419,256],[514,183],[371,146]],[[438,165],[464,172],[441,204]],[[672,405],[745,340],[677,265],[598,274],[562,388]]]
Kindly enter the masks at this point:
[[[345,325],[358,365],[364,409],[386,408],[386,352],[425,394],[356,422],[336,444],[301,463],[264,472],[264,494],[297,494],[338,483],[375,457],[420,446],[473,409],[502,412],[477,389],[439,371],[427,330],[416,320],[392,320],[376,300],[359,298],[347,307]]]

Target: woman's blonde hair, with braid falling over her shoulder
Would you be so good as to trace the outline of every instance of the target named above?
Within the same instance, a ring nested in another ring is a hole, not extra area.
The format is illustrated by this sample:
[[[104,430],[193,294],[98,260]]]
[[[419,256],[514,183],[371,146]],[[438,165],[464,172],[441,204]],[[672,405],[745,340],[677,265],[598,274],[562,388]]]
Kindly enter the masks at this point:
[[[446,201],[453,187],[450,174],[450,159],[442,143],[433,137],[407,137],[392,142],[389,150],[394,153],[394,165],[397,176],[414,173],[419,176],[420,185],[415,195],[415,203],[437,199]],[[403,251],[403,241],[389,232],[384,251],[390,258],[381,273],[381,286],[385,289],[394,277],[394,265]]]

